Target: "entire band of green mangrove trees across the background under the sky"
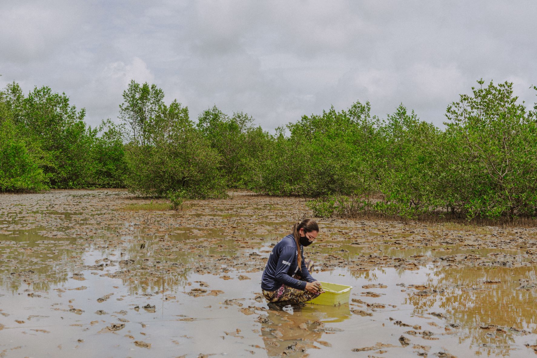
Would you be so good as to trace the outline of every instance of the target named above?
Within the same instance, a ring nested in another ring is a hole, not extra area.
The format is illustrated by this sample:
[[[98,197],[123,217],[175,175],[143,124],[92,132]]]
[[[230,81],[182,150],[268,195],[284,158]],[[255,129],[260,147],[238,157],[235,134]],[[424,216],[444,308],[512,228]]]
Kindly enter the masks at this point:
[[[445,130],[403,105],[382,120],[357,102],[270,135],[216,106],[194,124],[186,106],[135,81],[123,124],[91,128],[66,94],[25,96],[12,83],[0,91],[0,191],[126,186],[177,210],[240,187],[315,198],[320,217],[536,217],[537,104],[528,111],[511,83],[478,84],[448,106]]]

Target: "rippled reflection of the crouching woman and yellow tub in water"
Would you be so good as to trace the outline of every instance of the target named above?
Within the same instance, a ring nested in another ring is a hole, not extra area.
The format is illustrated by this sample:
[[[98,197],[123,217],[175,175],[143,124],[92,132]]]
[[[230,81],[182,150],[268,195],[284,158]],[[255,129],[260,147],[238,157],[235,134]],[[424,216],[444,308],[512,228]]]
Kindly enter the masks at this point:
[[[351,317],[348,304],[307,305],[292,312],[269,310],[267,313],[259,317],[259,322],[269,357],[302,357],[308,349],[330,346],[321,340],[325,323],[343,322]]]

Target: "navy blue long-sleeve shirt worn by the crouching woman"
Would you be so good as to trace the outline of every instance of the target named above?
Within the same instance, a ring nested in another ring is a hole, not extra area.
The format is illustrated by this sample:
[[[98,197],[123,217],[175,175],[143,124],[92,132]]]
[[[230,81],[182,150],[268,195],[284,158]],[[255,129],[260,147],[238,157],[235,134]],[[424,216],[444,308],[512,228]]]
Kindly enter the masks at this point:
[[[307,282],[314,282],[315,279],[311,277],[304,264],[303,247],[300,245],[300,251],[302,252],[302,265],[301,271],[298,271],[298,252],[296,250],[296,243],[293,234],[287,235],[280,240],[272,248],[272,252],[267,261],[265,271],[261,277],[261,289],[265,291],[274,291],[280,288],[281,284],[303,290],[306,288]],[[299,273],[306,281],[294,279],[292,276],[295,273]]]

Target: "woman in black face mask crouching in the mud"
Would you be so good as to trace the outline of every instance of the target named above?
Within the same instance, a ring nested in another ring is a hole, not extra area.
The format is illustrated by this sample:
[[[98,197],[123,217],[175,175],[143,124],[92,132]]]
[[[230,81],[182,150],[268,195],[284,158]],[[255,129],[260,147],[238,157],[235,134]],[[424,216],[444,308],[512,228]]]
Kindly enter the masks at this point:
[[[261,277],[261,288],[269,306],[302,303],[323,293],[321,282],[309,274],[313,262],[304,260],[302,252],[303,246],[313,243],[318,233],[317,223],[306,219],[294,224],[293,233],[274,246]]]

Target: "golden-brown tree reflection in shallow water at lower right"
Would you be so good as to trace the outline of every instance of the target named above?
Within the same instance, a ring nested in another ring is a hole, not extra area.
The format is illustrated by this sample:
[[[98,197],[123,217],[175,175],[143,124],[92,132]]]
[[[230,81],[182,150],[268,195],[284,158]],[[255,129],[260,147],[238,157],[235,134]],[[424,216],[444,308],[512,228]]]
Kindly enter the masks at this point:
[[[441,309],[448,330],[466,328],[460,341],[469,340],[470,348],[509,355],[517,335],[537,328],[536,278],[533,267],[439,267],[427,285],[432,294],[412,292],[405,303],[416,315]]]

